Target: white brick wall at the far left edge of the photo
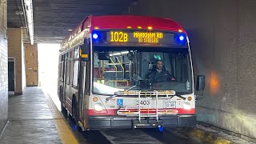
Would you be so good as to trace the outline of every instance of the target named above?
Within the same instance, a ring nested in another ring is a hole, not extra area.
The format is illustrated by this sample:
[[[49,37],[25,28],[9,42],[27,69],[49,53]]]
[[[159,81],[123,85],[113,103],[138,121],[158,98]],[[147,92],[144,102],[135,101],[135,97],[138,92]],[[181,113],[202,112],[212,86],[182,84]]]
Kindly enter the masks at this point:
[[[6,0],[0,0],[0,134],[8,117],[8,48]]]

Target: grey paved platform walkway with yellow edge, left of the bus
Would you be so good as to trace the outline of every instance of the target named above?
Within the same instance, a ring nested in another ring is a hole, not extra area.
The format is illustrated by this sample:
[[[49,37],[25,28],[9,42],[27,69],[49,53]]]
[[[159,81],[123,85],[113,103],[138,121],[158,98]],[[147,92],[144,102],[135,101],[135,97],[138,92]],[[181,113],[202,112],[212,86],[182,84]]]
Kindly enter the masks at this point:
[[[0,143],[78,143],[54,102],[38,87],[9,97],[8,120]]]

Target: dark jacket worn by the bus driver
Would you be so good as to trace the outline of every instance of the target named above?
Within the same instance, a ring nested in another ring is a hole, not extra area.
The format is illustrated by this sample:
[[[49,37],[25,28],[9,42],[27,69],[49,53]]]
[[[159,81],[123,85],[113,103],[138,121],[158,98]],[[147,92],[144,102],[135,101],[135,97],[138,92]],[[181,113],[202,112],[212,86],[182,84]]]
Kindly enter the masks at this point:
[[[168,82],[170,81],[170,78],[171,76],[168,70],[162,70],[161,72],[153,70],[149,74],[149,79],[151,83]]]

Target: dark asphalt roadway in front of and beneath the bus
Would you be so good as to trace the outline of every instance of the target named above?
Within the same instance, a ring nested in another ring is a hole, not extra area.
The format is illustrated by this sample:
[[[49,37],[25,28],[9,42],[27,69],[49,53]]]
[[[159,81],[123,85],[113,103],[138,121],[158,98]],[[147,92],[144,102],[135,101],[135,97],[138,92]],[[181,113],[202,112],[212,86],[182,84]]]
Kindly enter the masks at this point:
[[[91,131],[89,135],[85,132],[79,132],[74,126],[74,123],[69,121],[70,127],[74,132],[75,137],[79,143],[86,144],[130,144],[130,143],[148,143],[148,144],[198,144],[200,142],[195,141],[187,137],[186,135],[178,133],[176,130],[167,129],[162,132],[157,129],[128,129],[128,130],[99,130]]]

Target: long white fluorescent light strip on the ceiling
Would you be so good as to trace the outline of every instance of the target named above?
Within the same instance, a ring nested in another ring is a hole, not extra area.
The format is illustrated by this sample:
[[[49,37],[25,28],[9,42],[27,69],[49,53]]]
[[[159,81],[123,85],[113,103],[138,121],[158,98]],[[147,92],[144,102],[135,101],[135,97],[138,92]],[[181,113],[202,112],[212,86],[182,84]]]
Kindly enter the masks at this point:
[[[25,4],[26,25],[29,30],[30,44],[34,45],[34,20],[32,0],[23,0]]]

